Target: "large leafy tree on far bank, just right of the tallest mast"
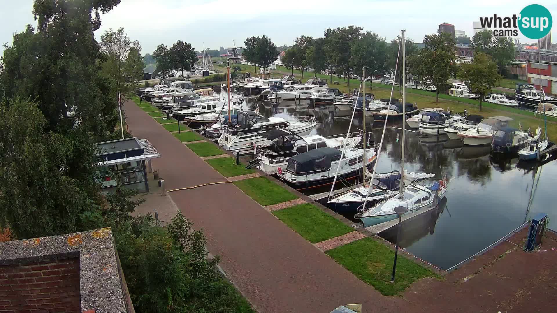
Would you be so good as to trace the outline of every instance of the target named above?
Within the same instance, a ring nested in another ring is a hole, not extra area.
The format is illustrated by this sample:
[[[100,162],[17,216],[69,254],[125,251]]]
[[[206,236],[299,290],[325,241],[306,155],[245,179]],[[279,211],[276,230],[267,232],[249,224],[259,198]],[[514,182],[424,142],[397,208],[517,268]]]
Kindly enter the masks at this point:
[[[447,85],[451,69],[456,62],[455,39],[448,33],[426,35],[425,47],[419,51],[418,61],[411,58],[416,75],[422,77],[424,84],[437,87],[435,102],[439,102],[439,92]]]

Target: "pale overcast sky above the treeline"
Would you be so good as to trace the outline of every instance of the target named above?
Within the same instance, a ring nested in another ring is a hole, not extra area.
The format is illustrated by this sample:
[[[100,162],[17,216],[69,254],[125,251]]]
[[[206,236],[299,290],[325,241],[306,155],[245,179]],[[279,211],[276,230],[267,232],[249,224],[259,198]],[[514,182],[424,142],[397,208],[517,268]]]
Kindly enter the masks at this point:
[[[532,2],[549,9],[557,18],[557,1]],[[480,16],[512,16],[529,2],[515,0],[468,1],[374,1],[374,0],[121,0],[102,18],[100,34],[124,27],[131,40],[139,40],[142,54],[152,53],[160,43],[171,46],[177,40],[192,43],[196,50],[221,46],[243,46],[246,37],[267,35],[277,45],[292,45],[297,36],[323,36],[328,27],[356,25],[391,40],[405,29],[407,36],[422,42],[436,33],[441,23],[451,23],[472,37],[472,22]],[[0,43],[12,42],[15,32],[36,25],[32,0],[2,0]],[[554,27],[555,28],[555,27]],[[553,32],[552,42],[557,42]],[[521,37],[522,43],[532,40]]]

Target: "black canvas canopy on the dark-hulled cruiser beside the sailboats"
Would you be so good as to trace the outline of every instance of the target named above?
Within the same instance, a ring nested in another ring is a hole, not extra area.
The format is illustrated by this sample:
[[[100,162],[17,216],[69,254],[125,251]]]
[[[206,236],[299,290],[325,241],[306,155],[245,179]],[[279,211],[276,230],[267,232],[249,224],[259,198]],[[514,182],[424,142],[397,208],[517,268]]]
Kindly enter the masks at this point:
[[[286,171],[293,175],[305,175],[308,172],[325,172],[331,163],[340,160],[342,151],[323,147],[301,153],[289,159]]]

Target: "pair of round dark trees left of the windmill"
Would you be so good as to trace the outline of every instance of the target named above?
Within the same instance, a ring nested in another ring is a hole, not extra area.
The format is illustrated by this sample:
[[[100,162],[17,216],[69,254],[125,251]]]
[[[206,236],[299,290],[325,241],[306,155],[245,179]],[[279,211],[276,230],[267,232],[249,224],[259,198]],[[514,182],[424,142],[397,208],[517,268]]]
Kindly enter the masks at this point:
[[[153,52],[153,57],[157,59],[157,70],[162,72],[163,76],[169,71],[191,71],[193,63],[197,61],[196,50],[192,48],[191,43],[178,40],[168,48],[162,43]]]

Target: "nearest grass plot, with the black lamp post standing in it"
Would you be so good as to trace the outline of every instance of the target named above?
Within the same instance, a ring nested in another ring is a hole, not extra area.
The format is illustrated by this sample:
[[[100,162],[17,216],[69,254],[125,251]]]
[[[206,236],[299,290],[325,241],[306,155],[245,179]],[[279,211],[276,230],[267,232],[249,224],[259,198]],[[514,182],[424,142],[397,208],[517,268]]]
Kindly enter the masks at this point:
[[[385,296],[398,295],[423,277],[439,278],[431,270],[399,256],[394,283],[391,283],[394,251],[372,238],[359,239],[325,253]]]

